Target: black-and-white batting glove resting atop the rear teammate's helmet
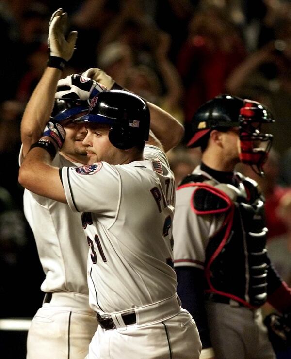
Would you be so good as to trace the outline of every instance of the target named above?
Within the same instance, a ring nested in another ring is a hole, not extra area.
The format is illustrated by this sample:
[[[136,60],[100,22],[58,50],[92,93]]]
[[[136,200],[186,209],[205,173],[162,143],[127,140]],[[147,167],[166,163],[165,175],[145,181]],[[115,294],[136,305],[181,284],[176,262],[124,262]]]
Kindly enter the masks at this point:
[[[91,100],[106,88],[80,74],[69,75],[58,81],[55,99]]]

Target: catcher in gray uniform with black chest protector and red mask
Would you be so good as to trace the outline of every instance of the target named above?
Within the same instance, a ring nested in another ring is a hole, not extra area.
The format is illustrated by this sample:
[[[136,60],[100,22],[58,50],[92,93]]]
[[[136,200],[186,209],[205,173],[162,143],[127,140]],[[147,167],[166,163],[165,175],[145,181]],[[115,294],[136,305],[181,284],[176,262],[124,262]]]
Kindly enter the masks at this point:
[[[173,223],[178,295],[193,315],[203,359],[275,359],[260,307],[291,310],[291,290],[265,249],[267,228],[257,183],[234,171],[238,162],[258,173],[273,119],[260,103],[220,95],[192,120],[189,147],[202,162],[177,190]]]

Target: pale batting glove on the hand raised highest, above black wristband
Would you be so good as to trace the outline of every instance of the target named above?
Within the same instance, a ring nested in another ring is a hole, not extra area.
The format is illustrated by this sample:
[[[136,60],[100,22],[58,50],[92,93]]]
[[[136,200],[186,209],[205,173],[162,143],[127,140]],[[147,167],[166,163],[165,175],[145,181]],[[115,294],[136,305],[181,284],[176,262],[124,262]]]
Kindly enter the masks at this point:
[[[66,25],[67,13],[60,8],[52,14],[49,21],[48,47],[50,56],[68,61],[73,56],[78,32],[71,31],[65,38]]]

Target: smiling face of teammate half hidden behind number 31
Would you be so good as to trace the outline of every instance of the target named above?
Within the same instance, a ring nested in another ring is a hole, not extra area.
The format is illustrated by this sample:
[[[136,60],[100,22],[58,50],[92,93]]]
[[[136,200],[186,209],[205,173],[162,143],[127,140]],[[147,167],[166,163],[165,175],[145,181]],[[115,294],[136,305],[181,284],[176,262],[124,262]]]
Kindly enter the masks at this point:
[[[64,125],[65,142],[61,152],[70,159],[87,164],[88,157],[83,139],[86,137],[87,129],[83,123],[68,122]]]

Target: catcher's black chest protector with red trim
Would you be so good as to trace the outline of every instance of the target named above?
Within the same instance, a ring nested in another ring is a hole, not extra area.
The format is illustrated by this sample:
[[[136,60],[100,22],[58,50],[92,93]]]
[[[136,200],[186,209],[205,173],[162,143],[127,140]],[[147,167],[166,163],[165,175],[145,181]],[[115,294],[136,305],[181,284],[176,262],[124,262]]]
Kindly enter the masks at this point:
[[[192,174],[182,184],[195,186],[197,215],[225,215],[206,248],[205,291],[257,307],[267,300],[264,202],[255,181],[239,173],[236,180],[235,185],[216,184]]]

